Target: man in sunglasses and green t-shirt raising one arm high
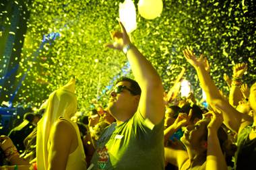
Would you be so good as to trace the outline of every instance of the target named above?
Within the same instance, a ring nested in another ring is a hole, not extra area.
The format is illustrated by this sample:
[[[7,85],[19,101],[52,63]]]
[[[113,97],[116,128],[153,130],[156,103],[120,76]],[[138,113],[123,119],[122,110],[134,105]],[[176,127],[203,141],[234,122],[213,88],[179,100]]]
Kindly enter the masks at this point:
[[[108,110],[117,122],[102,132],[90,168],[164,169],[162,81],[120,26],[106,46],[123,50],[137,82],[125,77],[110,93]]]

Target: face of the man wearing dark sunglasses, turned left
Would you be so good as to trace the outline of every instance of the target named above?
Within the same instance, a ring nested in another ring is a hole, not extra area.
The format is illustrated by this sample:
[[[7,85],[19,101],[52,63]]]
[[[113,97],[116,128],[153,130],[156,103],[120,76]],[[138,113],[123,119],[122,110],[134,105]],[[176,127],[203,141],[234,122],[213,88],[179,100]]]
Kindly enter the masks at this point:
[[[121,86],[123,86],[123,88],[120,88]],[[131,90],[129,81],[121,81],[115,85],[108,100],[108,108],[111,114],[122,112],[122,110],[134,110],[137,108],[135,95],[129,90]]]

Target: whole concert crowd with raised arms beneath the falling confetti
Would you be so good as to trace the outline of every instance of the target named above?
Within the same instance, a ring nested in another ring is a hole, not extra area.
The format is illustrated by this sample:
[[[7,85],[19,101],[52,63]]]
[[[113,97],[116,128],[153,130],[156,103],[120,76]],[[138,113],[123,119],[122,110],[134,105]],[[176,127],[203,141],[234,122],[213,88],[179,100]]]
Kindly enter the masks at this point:
[[[108,48],[123,50],[135,80],[122,77],[108,106],[74,119],[75,79],[53,91],[40,114],[0,137],[0,169],[256,169],[256,83],[244,83],[245,63],[233,68],[223,95],[210,77],[210,63],[183,51],[195,68],[207,108],[193,93],[179,97],[180,75],[168,93],[156,69],[131,43],[121,22]]]

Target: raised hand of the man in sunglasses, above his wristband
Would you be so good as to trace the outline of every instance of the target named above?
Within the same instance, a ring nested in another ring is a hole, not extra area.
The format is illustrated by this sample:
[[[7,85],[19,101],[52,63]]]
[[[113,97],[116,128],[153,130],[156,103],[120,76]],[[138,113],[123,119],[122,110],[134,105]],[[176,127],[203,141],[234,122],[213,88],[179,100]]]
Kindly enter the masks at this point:
[[[115,50],[123,50],[124,46],[131,43],[125,27],[121,22],[119,22],[119,25],[121,27],[121,32],[111,32],[110,35],[114,42],[106,43],[104,44],[104,47],[113,48]]]

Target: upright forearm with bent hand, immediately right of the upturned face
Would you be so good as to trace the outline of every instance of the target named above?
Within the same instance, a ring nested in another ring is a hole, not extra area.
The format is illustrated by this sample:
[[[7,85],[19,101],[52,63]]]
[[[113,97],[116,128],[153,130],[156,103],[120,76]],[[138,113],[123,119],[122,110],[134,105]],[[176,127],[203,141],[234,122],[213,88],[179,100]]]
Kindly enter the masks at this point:
[[[218,129],[220,128],[223,117],[221,113],[209,112],[212,116],[210,123],[207,126],[208,137],[207,137],[207,157],[206,157],[206,170],[227,170],[225,157],[220,147],[218,140]]]

